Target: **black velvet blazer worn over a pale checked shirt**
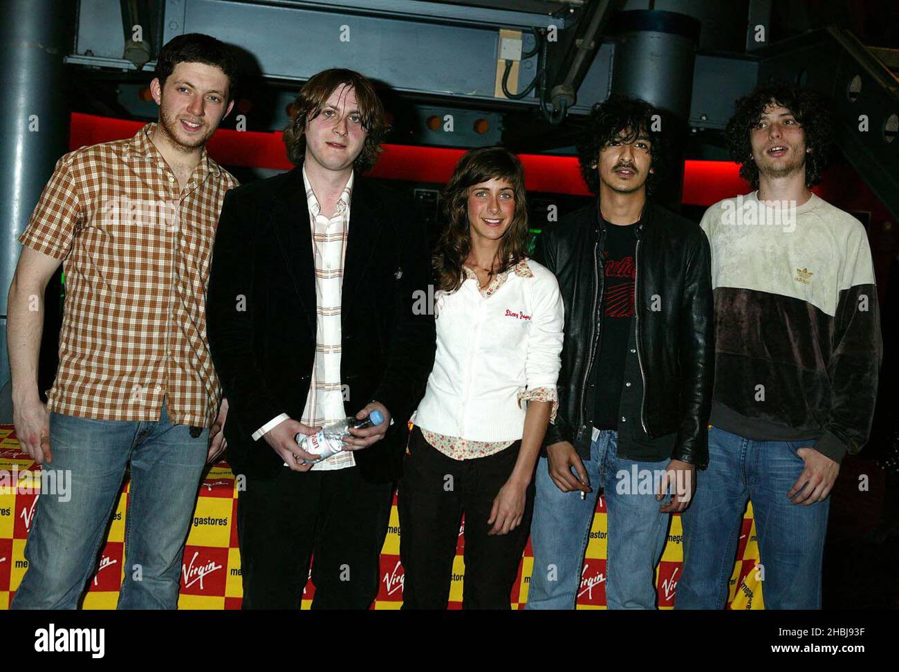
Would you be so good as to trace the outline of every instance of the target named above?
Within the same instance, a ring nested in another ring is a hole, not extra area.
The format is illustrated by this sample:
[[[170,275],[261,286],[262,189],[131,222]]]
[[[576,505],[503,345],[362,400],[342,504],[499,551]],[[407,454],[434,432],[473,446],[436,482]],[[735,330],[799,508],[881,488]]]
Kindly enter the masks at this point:
[[[300,420],[316,348],[316,279],[301,168],[227,192],[209,270],[209,349],[228,400],[235,473],[274,477],[280,456],[256,429]],[[383,403],[394,425],[355,453],[370,482],[400,476],[407,420],[436,348],[427,233],[413,205],[356,176],[343,273],[341,381],[348,415]],[[419,292],[423,292],[423,295]],[[346,399],[346,396],[349,398]]]

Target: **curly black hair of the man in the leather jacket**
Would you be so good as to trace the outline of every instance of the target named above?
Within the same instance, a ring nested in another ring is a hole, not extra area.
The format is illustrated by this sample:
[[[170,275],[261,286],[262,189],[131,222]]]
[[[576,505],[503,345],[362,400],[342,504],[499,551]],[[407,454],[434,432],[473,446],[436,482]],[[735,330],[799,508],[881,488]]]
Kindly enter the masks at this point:
[[[639,135],[645,135],[651,145],[649,153],[653,172],[646,178],[646,193],[651,194],[668,167],[669,144],[661,130],[667,127],[663,112],[639,98],[616,93],[593,105],[581,142],[577,145],[577,157],[587,188],[599,194],[600,174],[596,170],[596,162],[611,140],[619,137],[622,142],[628,143]]]

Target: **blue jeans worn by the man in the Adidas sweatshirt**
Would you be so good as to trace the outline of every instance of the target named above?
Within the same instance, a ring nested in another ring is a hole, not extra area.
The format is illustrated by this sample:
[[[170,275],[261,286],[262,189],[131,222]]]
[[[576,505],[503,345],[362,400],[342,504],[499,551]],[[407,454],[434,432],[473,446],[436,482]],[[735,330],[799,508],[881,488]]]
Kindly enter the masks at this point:
[[[764,568],[766,609],[820,609],[821,560],[830,498],[791,504],[787,492],[805,468],[797,449],[814,441],[753,441],[708,430],[708,469],[681,514],[683,574],[677,609],[723,609],[746,501],[752,500]]]

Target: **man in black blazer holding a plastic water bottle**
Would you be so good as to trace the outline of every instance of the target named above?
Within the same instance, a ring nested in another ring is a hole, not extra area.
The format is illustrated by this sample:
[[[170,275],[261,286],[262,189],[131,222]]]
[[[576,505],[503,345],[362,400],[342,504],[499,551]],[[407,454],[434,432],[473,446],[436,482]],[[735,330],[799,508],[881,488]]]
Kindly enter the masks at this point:
[[[284,132],[297,167],[227,193],[209,271],[209,349],[229,403],[244,608],[298,609],[310,556],[313,608],[370,606],[435,330],[427,234],[411,205],[360,178],[386,128],[371,83],[312,77]],[[298,447],[345,416],[346,450]]]

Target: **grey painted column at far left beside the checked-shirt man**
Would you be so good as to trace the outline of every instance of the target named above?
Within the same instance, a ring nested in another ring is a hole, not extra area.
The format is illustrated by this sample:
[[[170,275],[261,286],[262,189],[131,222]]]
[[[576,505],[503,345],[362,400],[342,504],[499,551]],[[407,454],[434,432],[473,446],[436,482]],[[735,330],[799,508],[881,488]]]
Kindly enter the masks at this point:
[[[54,165],[68,147],[68,91],[63,58],[71,52],[75,40],[76,3],[3,0],[0,4],[0,91],[4,96],[4,120],[0,124],[2,387],[10,378],[6,295],[21,249],[17,238],[28,224]],[[49,310],[58,311],[58,303],[50,305]]]

